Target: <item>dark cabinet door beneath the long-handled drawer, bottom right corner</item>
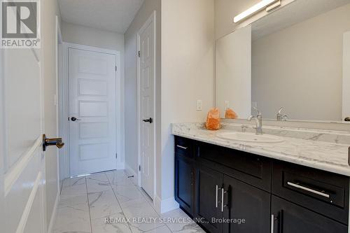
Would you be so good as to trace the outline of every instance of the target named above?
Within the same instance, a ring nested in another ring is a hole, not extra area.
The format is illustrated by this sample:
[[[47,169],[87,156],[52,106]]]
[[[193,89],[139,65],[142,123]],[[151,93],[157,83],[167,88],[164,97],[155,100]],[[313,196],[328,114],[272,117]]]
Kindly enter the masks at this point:
[[[346,233],[347,226],[272,195],[274,231],[279,233]]]

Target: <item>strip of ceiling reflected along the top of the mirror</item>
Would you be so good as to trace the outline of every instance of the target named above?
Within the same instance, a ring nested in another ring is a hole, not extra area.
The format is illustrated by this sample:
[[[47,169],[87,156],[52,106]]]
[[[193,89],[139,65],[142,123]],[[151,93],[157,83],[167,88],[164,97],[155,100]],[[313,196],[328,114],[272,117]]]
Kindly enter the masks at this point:
[[[251,24],[252,40],[350,3],[350,0],[295,0]]]

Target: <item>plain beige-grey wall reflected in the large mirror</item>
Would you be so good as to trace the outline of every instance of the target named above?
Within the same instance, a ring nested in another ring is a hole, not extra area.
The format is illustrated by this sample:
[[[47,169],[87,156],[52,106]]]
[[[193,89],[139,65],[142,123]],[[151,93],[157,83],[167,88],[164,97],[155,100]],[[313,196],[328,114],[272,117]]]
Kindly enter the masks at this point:
[[[252,101],[264,118],[342,120],[342,45],[350,4],[253,42]]]

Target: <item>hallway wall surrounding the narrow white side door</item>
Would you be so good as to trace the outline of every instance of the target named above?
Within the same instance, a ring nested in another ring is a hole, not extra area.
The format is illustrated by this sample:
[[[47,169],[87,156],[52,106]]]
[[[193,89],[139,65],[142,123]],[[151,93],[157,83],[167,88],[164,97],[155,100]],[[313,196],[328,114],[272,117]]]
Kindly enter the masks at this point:
[[[125,167],[137,174],[137,32],[153,11],[156,11],[156,115],[155,130],[160,138],[160,4],[161,0],[146,0],[125,32]],[[157,140],[160,142],[160,139]],[[160,144],[160,143],[159,143]],[[160,153],[157,146],[156,153]],[[157,176],[157,174],[155,174]]]

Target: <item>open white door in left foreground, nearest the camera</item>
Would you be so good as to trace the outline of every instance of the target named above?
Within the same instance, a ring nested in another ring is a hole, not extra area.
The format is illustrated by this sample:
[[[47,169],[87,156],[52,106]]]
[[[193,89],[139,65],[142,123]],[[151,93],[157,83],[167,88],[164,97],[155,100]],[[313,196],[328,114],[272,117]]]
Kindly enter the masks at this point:
[[[45,157],[40,50],[1,50],[0,232],[43,233]]]

